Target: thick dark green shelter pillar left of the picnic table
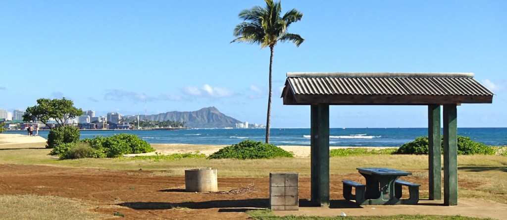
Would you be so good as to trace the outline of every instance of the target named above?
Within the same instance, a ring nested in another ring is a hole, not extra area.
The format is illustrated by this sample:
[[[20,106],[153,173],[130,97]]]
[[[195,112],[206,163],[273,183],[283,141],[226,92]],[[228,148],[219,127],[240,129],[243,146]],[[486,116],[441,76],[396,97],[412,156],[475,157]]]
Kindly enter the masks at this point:
[[[329,104],[310,108],[311,201],[329,206]]]

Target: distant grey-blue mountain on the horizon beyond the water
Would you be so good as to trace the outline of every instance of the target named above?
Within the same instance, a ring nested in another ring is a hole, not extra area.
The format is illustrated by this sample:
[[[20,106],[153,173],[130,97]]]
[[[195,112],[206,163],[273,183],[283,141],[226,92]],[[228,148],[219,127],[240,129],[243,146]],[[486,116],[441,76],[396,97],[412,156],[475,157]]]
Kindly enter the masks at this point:
[[[224,128],[235,127],[236,123],[242,123],[232,117],[226,116],[215,107],[205,107],[194,112],[167,112],[158,115],[141,115],[141,120],[150,121],[178,121],[185,122],[189,128]]]

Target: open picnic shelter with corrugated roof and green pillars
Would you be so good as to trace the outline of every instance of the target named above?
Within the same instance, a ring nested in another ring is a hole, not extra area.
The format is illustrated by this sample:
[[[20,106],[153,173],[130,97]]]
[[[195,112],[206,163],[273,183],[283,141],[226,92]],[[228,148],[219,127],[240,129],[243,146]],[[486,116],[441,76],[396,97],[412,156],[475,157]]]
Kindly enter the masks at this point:
[[[311,201],[329,206],[329,106],[426,105],[428,109],[429,199],[458,203],[457,105],[492,103],[493,93],[470,73],[287,72],[285,105],[310,105]],[[441,122],[441,106],[443,121]]]

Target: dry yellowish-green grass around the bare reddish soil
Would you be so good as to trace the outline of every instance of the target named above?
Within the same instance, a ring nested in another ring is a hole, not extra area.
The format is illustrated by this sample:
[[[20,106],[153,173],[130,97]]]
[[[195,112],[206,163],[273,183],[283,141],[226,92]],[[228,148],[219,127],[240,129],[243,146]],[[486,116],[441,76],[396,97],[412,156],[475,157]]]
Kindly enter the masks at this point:
[[[146,159],[79,159],[59,160],[49,156],[49,149],[44,149],[44,143],[37,144],[3,144],[0,146],[0,164],[30,164],[49,165],[64,167],[88,167],[113,170],[150,170],[154,175],[183,176],[186,169],[212,167],[220,170],[219,177],[267,177],[269,172],[298,172],[300,176],[310,175],[310,158],[279,158],[259,160],[233,160],[205,158],[183,158],[176,160],[153,160]],[[427,178],[428,158],[427,155],[357,155],[347,157],[333,157],[330,159],[330,174],[339,175],[344,173],[357,173],[356,167],[390,167],[408,170],[414,176]],[[483,198],[507,204],[507,158],[498,155],[458,156],[458,180],[477,182],[477,187],[458,189],[459,198]],[[13,201],[13,198],[0,197],[0,201]],[[26,199],[19,196],[18,202],[23,203]],[[31,198],[33,203],[40,203],[41,207],[51,198]],[[15,199],[14,199],[15,200]],[[80,201],[63,201],[76,203],[79,209]],[[9,202],[7,202],[9,203]],[[6,203],[6,204],[7,204]],[[12,203],[12,202],[11,202]],[[9,204],[11,204],[9,203]],[[14,202],[16,203],[16,202]],[[58,201],[55,202],[58,204]],[[38,205],[33,205],[38,206]],[[57,207],[56,205],[55,207]],[[53,208],[41,209],[42,212]],[[13,207],[12,212],[24,212]],[[9,212],[9,211],[8,211]],[[52,211],[49,211],[52,212]],[[5,213],[4,213],[5,214]],[[269,212],[255,211],[249,213],[256,219],[279,219]],[[16,215],[18,216],[18,215]],[[22,216],[18,216],[22,217]],[[97,216],[90,216],[96,218]],[[79,218],[79,217],[78,217]],[[88,218],[88,217],[87,217]],[[348,217],[347,217],[348,218]],[[379,219],[379,216],[374,217]],[[349,219],[374,219],[372,217],[354,217]],[[442,216],[395,216],[396,219],[475,219],[466,217],[443,218]],[[394,219],[393,216],[381,219]],[[331,219],[331,218],[296,218],[284,217],[282,219]]]

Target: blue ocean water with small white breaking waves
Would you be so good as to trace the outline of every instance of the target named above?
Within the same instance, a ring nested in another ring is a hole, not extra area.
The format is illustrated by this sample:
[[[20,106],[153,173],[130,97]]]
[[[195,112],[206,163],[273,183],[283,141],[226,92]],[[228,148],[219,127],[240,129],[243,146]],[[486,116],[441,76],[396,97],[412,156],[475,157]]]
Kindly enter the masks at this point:
[[[26,131],[8,133],[26,134]],[[265,140],[265,129],[186,129],[161,130],[85,130],[81,138],[135,134],[149,143],[188,143],[230,145],[241,140]],[[48,131],[40,131],[47,138]],[[418,136],[426,136],[427,128],[331,128],[330,146],[400,146]],[[507,145],[507,128],[458,128],[458,135],[468,136],[487,145]],[[271,129],[270,143],[275,145],[310,145],[309,128]]]

